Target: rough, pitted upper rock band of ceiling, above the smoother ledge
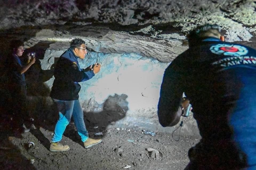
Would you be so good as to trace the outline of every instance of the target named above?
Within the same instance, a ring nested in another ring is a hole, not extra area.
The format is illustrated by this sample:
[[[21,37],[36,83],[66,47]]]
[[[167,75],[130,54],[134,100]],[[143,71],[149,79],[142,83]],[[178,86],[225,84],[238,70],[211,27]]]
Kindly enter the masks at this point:
[[[255,35],[256,2],[253,0],[181,1],[19,1],[1,2],[1,28],[67,22],[145,25],[173,23],[181,32],[204,23],[219,23],[229,41],[249,41]]]

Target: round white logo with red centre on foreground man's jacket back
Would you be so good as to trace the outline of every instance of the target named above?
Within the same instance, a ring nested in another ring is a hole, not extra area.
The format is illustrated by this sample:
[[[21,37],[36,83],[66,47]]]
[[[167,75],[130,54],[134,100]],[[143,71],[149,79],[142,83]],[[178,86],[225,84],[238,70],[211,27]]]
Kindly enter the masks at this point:
[[[210,47],[214,54],[223,54],[224,56],[243,56],[248,53],[247,48],[241,45],[233,44],[217,44]]]

